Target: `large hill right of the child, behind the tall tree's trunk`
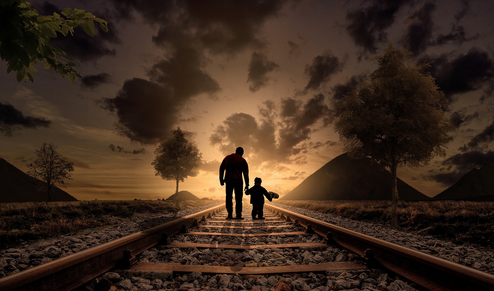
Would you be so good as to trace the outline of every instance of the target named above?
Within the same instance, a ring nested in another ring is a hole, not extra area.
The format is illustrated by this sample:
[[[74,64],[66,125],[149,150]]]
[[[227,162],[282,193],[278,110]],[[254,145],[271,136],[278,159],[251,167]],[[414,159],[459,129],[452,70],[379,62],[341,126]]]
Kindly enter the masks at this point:
[[[397,178],[400,200],[428,200]],[[379,170],[370,158],[353,160],[346,153],[330,160],[281,200],[390,200],[391,173]]]

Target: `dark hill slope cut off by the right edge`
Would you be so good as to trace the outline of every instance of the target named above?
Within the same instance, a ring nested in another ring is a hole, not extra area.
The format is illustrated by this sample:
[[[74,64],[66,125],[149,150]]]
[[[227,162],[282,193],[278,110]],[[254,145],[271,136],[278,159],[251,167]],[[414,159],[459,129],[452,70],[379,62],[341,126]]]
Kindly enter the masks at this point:
[[[484,196],[484,197],[480,197]],[[432,197],[438,200],[492,201],[494,196],[494,162],[485,163],[470,172],[451,187]]]

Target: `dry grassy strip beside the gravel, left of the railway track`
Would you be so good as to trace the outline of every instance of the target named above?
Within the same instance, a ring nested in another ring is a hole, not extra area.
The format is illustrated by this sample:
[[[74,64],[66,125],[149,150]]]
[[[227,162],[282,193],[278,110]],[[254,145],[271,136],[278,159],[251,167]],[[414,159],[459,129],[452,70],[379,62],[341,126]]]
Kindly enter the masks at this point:
[[[178,206],[174,201],[151,200],[0,203],[0,249],[39,237],[115,224],[138,213],[176,212],[217,202],[189,200]]]

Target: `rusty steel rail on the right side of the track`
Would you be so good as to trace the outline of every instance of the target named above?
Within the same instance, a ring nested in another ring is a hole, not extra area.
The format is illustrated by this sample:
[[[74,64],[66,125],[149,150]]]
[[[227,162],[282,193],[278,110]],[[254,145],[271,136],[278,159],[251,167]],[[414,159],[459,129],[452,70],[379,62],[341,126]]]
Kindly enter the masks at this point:
[[[370,249],[378,263],[430,291],[494,290],[494,275],[433,255],[389,243],[328,222],[266,204],[323,237],[328,237],[352,252],[364,255]],[[328,235],[328,233],[330,233]]]

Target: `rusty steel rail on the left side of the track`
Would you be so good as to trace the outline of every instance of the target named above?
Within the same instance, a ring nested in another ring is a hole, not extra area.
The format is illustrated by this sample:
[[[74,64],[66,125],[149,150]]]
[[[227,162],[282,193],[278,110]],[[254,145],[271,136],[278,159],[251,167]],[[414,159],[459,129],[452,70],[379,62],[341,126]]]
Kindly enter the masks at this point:
[[[139,231],[119,239],[92,247],[72,255],[57,258],[50,262],[0,278],[1,291],[71,291],[90,282],[97,276],[116,267],[127,252],[130,259],[157,245],[166,233],[168,236],[181,231],[195,219],[201,219],[215,211],[222,210],[225,203],[204,211]]]

